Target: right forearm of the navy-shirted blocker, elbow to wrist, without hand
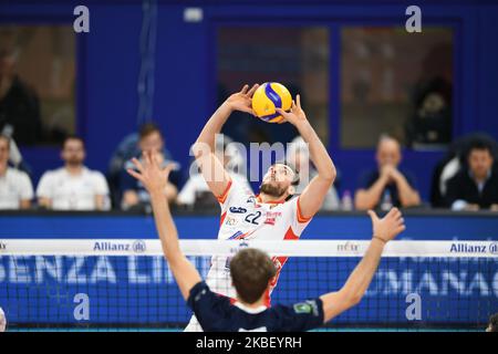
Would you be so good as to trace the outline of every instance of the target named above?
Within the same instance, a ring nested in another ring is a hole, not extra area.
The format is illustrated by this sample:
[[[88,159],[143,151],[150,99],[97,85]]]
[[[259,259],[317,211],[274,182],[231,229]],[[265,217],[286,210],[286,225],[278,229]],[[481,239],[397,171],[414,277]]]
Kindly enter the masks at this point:
[[[341,292],[345,299],[349,299],[351,305],[359,303],[369,289],[381,261],[383,250],[384,242],[376,238],[372,239],[363,259],[347,278],[344,287],[342,287]]]

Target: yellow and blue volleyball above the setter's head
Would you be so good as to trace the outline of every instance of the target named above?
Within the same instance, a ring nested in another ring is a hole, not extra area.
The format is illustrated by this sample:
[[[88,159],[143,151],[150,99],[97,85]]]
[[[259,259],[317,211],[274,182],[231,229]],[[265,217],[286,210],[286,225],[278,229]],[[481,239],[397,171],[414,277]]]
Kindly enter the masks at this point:
[[[267,123],[279,123],[283,117],[276,107],[289,111],[292,96],[287,87],[278,82],[266,82],[252,95],[252,111]]]

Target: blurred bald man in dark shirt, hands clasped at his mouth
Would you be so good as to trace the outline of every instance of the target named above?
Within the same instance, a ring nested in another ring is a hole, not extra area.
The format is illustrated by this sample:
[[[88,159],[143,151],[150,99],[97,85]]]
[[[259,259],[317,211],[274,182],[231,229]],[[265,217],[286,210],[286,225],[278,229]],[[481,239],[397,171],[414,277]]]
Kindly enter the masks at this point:
[[[365,174],[354,197],[356,209],[391,207],[414,207],[421,204],[415,188],[415,178],[407,171],[401,171],[402,160],[400,143],[388,136],[382,136],[376,153],[377,169]]]

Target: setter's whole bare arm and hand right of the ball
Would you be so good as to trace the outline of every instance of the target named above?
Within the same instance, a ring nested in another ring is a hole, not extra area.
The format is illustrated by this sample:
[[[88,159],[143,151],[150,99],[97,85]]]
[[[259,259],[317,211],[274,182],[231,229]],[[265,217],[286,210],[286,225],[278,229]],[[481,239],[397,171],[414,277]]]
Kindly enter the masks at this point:
[[[318,176],[315,176],[299,197],[300,211],[304,218],[315,215],[322,207],[326,192],[335,179],[335,166],[323,146],[317,132],[314,132],[301,107],[300,95],[292,101],[291,112],[277,108],[286,122],[295,126],[299,134],[310,147],[310,158],[317,167]]]

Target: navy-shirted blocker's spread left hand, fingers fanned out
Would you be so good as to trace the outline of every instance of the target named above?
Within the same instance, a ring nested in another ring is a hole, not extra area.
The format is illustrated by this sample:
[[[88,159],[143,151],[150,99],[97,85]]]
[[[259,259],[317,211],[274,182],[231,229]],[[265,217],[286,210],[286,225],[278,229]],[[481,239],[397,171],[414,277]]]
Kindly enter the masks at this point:
[[[164,168],[159,167],[156,152],[144,152],[143,157],[143,163],[136,158],[132,159],[133,165],[135,165],[138,171],[129,168],[126,171],[139,180],[149,194],[155,191],[164,192],[168,183],[169,173],[175,165],[169,164]]]

